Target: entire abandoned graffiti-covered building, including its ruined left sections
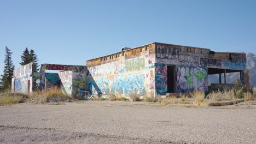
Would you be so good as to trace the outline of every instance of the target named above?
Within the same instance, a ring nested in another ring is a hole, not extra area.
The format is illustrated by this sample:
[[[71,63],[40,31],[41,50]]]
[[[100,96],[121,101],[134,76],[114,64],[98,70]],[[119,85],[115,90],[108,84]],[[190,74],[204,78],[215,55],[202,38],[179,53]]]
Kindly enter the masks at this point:
[[[26,65],[23,67],[28,68]],[[52,74],[45,73],[45,70],[61,72]],[[19,91],[23,86],[16,81],[21,77],[31,81],[28,76],[31,71],[24,70],[19,76],[16,74],[20,70],[15,71],[13,88]],[[88,93],[114,94],[116,97],[128,97],[136,93],[155,97],[168,93],[187,93],[194,89],[206,92],[211,87],[225,87],[226,73],[235,72],[240,73],[242,85],[249,86],[245,53],[151,43],[132,49],[124,47],[117,53],[86,61],[86,66],[42,64],[39,86],[44,89],[58,85],[63,92],[76,97],[84,97]],[[219,75],[219,83],[210,83],[208,75],[216,74]]]

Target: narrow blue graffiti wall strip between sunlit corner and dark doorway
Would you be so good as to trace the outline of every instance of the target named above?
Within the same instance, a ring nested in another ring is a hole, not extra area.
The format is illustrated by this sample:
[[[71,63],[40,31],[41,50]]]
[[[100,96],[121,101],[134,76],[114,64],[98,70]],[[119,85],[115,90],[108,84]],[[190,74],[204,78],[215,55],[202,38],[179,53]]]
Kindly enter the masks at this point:
[[[155,64],[155,90],[158,94],[167,93],[167,67],[166,64]]]

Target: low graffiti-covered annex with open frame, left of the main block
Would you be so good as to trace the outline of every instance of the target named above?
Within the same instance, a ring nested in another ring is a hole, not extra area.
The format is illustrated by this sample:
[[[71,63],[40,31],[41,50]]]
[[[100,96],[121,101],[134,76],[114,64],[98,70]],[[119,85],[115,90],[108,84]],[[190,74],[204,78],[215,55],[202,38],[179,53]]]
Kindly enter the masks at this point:
[[[45,73],[45,70],[63,70],[60,73]],[[40,89],[61,87],[62,92],[73,97],[83,97],[91,93],[90,72],[84,65],[42,64],[40,69]],[[88,81],[90,82],[88,84]]]

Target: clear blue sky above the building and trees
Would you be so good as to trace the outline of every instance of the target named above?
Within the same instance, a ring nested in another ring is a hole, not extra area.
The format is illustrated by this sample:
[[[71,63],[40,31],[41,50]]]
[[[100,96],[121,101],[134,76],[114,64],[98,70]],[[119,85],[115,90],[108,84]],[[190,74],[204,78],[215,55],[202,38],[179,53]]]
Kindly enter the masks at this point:
[[[256,53],[256,1],[0,0],[0,20],[0,74],[5,46],[16,68],[26,47],[74,65],[154,41]]]

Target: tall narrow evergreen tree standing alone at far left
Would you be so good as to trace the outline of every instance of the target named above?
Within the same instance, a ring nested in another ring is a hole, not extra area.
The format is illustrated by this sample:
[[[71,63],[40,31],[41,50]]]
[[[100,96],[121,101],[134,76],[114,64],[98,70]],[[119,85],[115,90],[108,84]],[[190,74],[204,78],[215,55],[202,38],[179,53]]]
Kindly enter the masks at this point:
[[[1,75],[1,84],[3,89],[11,88],[11,78],[13,77],[14,65],[13,61],[11,61],[10,50],[7,46],[5,46],[5,59],[4,59],[4,74]]]

